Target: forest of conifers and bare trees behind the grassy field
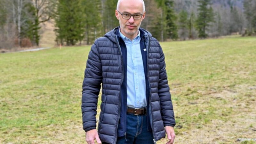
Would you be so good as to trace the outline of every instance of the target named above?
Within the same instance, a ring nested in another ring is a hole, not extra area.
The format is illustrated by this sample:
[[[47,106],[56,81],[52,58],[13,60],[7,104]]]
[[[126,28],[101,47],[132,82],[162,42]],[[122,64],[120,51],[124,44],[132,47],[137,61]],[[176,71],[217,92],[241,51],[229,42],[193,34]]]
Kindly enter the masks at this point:
[[[0,49],[40,45],[45,22],[56,44],[92,44],[119,25],[118,0],[0,0]],[[144,0],[141,27],[159,41],[256,33],[256,0]]]

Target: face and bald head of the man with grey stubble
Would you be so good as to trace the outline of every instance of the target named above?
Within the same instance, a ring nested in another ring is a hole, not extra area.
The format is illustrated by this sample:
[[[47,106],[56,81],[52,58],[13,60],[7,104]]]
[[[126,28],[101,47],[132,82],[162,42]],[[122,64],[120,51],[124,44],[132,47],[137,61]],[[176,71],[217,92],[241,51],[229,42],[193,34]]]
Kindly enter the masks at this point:
[[[122,18],[119,13],[127,14],[143,14],[141,19]],[[116,10],[116,18],[119,20],[120,30],[129,39],[133,39],[138,35],[138,29],[142,20],[145,18],[145,12],[143,11],[143,3],[140,0],[122,0],[119,5],[119,10]]]

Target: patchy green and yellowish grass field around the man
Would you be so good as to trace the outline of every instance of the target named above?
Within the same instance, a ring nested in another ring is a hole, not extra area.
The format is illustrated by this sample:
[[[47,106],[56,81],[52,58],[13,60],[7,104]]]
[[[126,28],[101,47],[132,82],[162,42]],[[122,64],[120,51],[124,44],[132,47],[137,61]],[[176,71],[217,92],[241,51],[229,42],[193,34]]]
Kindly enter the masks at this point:
[[[161,46],[177,122],[176,143],[256,138],[256,37]],[[0,54],[0,143],[85,142],[81,90],[89,50],[84,46]]]

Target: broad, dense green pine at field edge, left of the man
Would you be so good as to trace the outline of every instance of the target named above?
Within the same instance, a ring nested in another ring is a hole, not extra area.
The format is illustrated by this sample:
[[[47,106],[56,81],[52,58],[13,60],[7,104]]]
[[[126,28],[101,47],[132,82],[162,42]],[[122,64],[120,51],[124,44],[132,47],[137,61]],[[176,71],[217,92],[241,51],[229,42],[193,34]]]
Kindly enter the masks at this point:
[[[59,0],[56,11],[56,41],[66,45],[75,45],[84,39],[84,14],[81,0]]]

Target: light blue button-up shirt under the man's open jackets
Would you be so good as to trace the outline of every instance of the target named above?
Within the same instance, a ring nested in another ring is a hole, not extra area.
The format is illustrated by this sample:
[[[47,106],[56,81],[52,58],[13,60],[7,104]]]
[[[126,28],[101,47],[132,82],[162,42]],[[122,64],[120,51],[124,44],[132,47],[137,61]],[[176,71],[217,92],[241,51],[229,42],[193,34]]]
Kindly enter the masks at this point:
[[[146,80],[140,51],[140,31],[133,40],[125,37],[119,29],[127,49],[127,107],[142,108],[147,106]]]

